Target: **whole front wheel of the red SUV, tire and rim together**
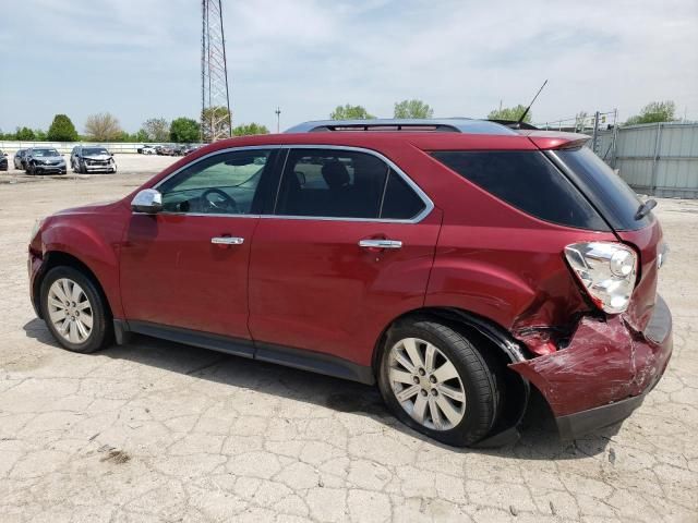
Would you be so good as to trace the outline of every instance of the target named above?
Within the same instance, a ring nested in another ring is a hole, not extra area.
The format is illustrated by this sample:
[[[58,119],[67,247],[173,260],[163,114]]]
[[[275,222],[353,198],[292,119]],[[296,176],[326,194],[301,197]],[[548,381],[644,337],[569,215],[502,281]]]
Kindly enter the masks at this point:
[[[51,335],[73,352],[95,352],[111,341],[106,301],[93,280],[72,267],[55,267],[41,282],[41,315]]]

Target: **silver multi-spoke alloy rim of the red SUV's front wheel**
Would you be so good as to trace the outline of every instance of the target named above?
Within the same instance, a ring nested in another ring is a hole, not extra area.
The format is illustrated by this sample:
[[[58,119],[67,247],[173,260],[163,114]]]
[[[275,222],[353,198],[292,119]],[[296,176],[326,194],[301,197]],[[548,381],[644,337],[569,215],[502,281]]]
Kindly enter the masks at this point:
[[[47,311],[56,331],[70,343],[84,343],[93,329],[92,304],[73,280],[60,278],[48,290]]]

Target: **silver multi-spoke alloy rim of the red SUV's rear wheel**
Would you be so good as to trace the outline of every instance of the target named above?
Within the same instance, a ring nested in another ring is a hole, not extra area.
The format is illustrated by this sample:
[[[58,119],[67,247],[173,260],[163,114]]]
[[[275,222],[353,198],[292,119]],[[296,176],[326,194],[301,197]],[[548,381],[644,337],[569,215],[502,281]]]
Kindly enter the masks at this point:
[[[456,427],[466,413],[466,391],[452,361],[434,344],[405,338],[390,349],[388,380],[412,419],[433,430]]]

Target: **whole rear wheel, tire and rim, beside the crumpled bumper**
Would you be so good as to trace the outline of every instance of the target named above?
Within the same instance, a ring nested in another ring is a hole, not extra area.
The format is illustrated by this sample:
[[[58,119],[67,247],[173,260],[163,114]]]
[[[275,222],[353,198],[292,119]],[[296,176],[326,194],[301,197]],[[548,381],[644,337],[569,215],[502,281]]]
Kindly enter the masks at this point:
[[[388,331],[378,387],[398,419],[465,447],[484,438],[500,412],[498,373],[462,333],[429,318]]]

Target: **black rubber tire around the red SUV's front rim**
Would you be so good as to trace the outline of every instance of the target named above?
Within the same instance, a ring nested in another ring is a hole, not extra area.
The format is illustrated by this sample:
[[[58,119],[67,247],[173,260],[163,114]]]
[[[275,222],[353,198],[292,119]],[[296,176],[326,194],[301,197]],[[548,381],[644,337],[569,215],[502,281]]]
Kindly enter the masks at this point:
[[[53,282],[61,278],[68,278],[77,283],[83,289],[91,304],[93,327],[89,336],[82,343],[71,343],[69,340],[63,338],[50,320],[48,309],[49,289]],[[41,281],[40,307],[41,316],[44,317],[44,321],[46,321],[48,330],[51,332],[56,341],[69,351],[87,354],[108,346],[113,341],[113,323],[111,320],[111,313],[107,306],[106,299],[92,278],[85,276],[73,267],[59,266],[53,267],[48,271]]]

